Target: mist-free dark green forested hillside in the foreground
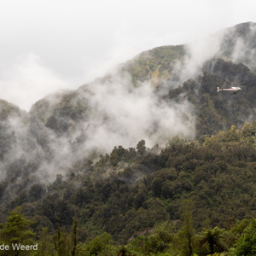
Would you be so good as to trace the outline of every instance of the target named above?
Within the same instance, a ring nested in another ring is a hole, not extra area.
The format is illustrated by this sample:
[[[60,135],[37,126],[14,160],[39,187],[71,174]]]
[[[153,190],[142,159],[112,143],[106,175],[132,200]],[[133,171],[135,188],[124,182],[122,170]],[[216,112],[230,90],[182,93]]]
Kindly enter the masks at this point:
[[[56,243],[73,242],[69,237],[78,236],[81,255],[93,255],[91,250],[116,255],[127,242],[123,248],[132,255],[192,255],[189,250],[207,255],[212,249],[207,241],[201,247],[200,237],[216,232],[224,247],[214,245],[214,252],[235,247],[232,250],[242,255],[245,248],[250,250],[250,242],[244,241],[249,231],[243,230],[253,229],[255,222],[250,220],[256,210],[255,135],[253,122],[241,131],[232,126],[193,142],[172,137],[165,148],[146,148],[143,140],[136,148],[119,146],[95,164],[77,163],[67,177],[58,175],[48,186],[21,189],[1,214],[20,206],[32,220],[30,230],[38,237],[33,242],[46,239],[48,252],[70,251],[72,247],[58,248]],[[8,223],[15,225],[15,214],[20,213],[12,212]],[[5,242],[8,227],[0,231]]]

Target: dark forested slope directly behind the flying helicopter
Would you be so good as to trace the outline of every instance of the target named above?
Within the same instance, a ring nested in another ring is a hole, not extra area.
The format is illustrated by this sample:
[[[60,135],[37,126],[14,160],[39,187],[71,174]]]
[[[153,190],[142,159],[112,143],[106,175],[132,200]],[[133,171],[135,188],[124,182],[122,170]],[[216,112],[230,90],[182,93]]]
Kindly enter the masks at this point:
[[[239,84],[242,92],[217,92],[216,87],[229,88]],[[241,84],[241,85],[240,85]],[[241,128],[245,122],[256,119],[256,74],[243,64],[221,58],[207,61],[202,74],[189,79],[168,93],[169,101],[184,98],[195,107],[196,136],[227,130],[231,125]]]

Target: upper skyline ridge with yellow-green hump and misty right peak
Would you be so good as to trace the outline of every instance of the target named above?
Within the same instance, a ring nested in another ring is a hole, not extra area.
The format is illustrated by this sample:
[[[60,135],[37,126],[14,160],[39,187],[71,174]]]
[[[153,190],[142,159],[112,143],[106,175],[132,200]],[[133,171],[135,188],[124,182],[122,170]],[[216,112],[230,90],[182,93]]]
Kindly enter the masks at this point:
[[[161,46],[144,51],[127,61],[122,68],[131,73],[135,84],[152,80],[154,85],[161,80],[178,79],[187,64],[201,67],[214,56],[226,57],[227,60],[244,63],[253,69],[256,67],[255,42],[256,24],[246,22],[189,44]]]

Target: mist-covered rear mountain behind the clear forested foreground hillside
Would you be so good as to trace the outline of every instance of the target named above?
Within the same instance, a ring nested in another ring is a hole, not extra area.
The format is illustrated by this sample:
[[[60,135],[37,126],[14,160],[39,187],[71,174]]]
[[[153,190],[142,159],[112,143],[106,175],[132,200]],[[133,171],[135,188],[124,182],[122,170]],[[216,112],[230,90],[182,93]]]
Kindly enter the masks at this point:
[[[175,135],[191,139],[252,122],[255,24],[211,38],[216,40],[202,44],[210,49],[216,43],[210,55],[201,44],[197,50],[190,44],[151,49],[78,90],[46,96],[30,113],[1,101],[2,203],[114,146],[132,148],[144,139],[153,148]],[[217,93],[217,86],[230,84],[241,84],[243,91]]]

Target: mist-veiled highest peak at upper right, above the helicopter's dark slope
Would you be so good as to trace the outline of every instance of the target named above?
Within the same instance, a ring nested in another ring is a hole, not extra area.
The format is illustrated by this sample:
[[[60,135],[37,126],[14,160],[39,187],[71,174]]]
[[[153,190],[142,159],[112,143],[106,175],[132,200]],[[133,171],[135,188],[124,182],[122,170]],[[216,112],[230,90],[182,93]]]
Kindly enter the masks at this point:
[[[255,40],[256,25],[246,22],[184,44],[186,55],[183,61],[177,62],[174,70],[179,78],[177,85],[201,75],[204,63],[212,58],[242,62],[255,68]]]

